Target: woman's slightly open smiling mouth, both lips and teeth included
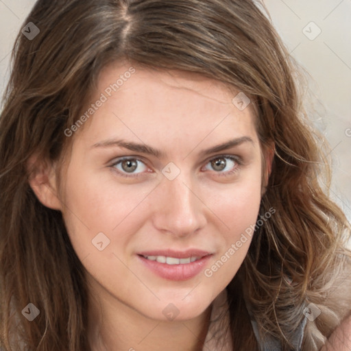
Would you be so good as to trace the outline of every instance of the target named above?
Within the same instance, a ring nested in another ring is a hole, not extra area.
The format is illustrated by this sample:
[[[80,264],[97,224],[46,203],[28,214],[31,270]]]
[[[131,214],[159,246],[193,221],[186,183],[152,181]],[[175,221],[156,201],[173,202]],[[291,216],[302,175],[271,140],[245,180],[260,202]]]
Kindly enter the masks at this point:
[[[189,280],[202,271],[213,254],[202,250],[172,250],[142,252],[137,254],[145,267],[160,278]]]

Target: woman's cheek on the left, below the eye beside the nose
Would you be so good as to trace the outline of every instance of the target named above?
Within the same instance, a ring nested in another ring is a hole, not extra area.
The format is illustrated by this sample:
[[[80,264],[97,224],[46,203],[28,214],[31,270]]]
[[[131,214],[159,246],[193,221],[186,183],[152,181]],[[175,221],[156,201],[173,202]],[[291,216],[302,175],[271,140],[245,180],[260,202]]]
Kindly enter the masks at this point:
[[[116,186],[109,172],[85,173],[82,167],[69,169],[63,217],[77,256],[95,255],[103,247],[106,256],[112,254],[112,246],[114,252],[117,247],[125,248],[131,233],[141,226],[142,217],[134,212],[148,191],[139,190],[131,193],[128,186]]]

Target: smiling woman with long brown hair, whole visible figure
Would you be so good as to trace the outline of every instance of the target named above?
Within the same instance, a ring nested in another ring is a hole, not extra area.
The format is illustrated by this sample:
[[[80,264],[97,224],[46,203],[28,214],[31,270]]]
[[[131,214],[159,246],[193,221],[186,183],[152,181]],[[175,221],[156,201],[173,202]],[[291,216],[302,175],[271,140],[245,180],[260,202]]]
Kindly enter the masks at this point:
[[[349,350],[350,226],[258,5],[39,0],[26,23],[3,350]]]

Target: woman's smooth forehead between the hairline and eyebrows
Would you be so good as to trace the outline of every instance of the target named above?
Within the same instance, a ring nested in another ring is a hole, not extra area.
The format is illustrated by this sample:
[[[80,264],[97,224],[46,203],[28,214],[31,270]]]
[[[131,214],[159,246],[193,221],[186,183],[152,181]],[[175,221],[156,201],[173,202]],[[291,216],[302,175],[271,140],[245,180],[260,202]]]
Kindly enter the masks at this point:
[[[198,73],[114,62],[99,75],[90,103],[101,97],[104,102],[82,128],[83,138],[97,143],[122,134],[145,143],[162,137],[169,142],[189,137],[195,142],[206,134],[211,134],[208,141],[253,134],[254,109],[249,104],[239,110],[233,104],[238,93]]]

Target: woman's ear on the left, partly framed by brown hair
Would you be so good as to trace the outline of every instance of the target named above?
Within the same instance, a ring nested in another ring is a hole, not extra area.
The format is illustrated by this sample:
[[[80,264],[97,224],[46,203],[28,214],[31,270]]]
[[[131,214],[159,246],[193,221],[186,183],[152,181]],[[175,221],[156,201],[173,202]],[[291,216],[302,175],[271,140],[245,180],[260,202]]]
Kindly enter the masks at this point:
[[[27,172],[29,174],[29,186],[38,200],[46,207],[61,210],[62,203],[58,198],[55,165],[46,160],[40,160],[37,155],[33,155],[27,162]]]

